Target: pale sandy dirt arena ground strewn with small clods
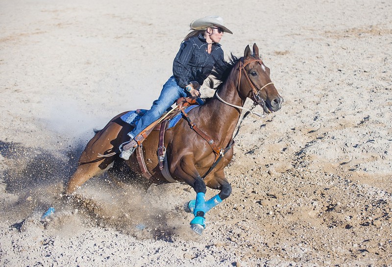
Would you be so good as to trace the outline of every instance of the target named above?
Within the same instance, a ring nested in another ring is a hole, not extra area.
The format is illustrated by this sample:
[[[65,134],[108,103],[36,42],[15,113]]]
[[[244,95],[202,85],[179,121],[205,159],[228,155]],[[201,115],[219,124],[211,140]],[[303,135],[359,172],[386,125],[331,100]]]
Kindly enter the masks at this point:
[[[234,33],[226,57],[257,43],[285,102],[246,117],[203,235],[178,183],[143,195],[103,175],[62,201],[93,129],[148,108],[211,14]],[[0,0],[0,265],[392,266],[391,14],[385,0]]]

